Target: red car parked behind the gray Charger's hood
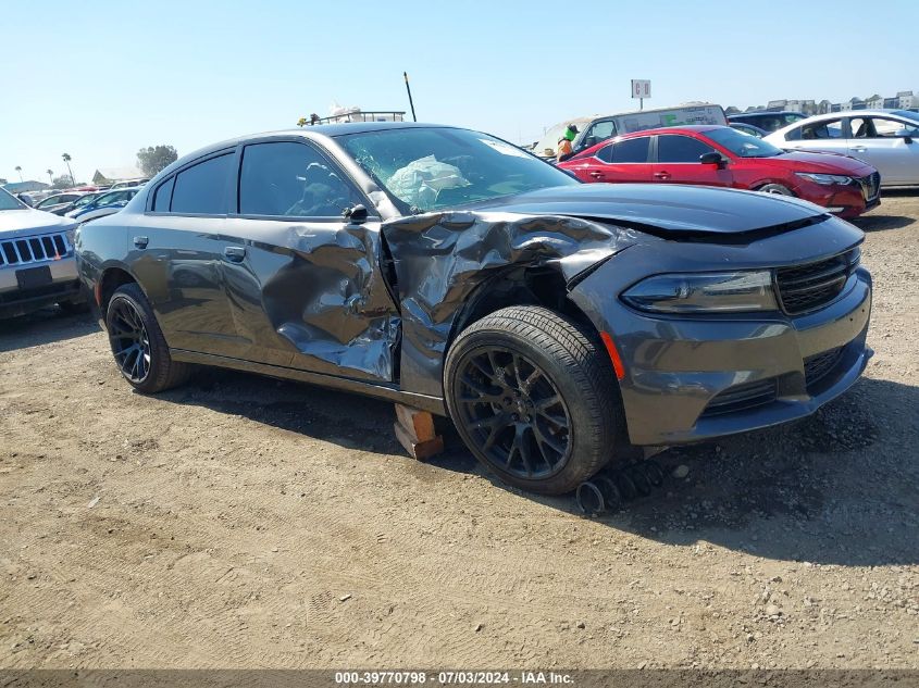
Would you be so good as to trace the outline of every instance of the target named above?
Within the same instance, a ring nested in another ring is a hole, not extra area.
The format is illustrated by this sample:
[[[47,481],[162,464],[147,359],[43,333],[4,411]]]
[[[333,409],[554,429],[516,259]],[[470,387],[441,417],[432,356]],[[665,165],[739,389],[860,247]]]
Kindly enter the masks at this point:
[[[842,217],[880,204],[881,175],[832,153],[788,153],[726,126],[626,134],[559,163],[583,182],[699,184],[796,196]]]

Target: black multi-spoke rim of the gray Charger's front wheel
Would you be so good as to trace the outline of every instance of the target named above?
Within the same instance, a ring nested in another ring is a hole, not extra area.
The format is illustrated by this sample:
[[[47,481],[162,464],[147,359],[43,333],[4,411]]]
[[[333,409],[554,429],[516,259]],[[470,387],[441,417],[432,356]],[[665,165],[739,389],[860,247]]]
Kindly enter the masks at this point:
[[[456,381],[459,422],[489,463],[527,480],[564,467],[571,416],[533,361],[500,347],[479,348],[460,363]]]

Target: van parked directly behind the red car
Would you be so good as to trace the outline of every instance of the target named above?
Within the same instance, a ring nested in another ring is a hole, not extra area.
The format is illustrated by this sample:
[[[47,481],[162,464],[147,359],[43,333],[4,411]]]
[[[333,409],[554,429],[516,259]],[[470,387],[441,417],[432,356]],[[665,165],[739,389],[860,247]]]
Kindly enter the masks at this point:
[[[728,117],[724,116],[724,109],[721,105],[711,103],[685,103],[675,108],[575,117],[549,127],[545,136],[536,142],[533,152],[542,158],[555,158],[558,140],[564,134],[564,128],[569,124],[578,127],[579,134],[571,145],[573,152],[576,153],[621,134],[683,124],[720,124],[728,126]]]

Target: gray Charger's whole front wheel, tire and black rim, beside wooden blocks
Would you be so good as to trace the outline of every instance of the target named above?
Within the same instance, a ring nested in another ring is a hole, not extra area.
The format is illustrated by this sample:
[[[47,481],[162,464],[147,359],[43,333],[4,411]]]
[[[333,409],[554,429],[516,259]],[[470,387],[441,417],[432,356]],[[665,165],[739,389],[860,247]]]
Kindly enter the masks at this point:
[[[624,427],[603,351],[548,309],[497,311],[464,329],[447,354],[450,417],[472,453],[506,483],[570,492],[609,462]]]

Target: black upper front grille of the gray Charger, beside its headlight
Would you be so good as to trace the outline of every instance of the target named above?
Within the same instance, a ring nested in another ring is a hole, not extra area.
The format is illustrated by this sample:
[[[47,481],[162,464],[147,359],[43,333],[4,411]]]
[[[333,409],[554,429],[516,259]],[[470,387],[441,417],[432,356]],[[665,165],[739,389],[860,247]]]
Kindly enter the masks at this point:
[[[782,309],[788,315],[797,315],[825,305],[840,296],[860,260],[861,249],[856,247],[816,263],[780,267],[775,284]]]

